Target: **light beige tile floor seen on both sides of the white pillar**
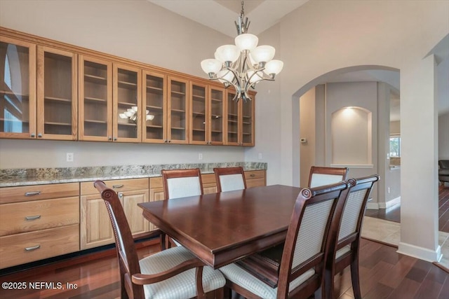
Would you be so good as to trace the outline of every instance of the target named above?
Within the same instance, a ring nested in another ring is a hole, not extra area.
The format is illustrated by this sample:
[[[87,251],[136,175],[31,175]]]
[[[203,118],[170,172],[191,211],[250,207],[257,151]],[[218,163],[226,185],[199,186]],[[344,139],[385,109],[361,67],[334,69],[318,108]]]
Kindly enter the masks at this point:
[[[398,246],[401,240],[401,223],[365,216],[362,237]],[[441,246],[441,253],[443,254],[440,263],[449,269],[448,232],[438,232],[438,244]]]

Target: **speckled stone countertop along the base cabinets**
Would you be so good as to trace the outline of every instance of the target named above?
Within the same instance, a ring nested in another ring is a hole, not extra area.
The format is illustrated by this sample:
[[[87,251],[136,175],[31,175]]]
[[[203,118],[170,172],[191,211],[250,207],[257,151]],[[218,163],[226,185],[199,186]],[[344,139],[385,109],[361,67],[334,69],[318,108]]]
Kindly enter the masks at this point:
[[[201,169],[201,173],[212,173],[214,167],[241,166],[245,170],[267,169],[265,162],[222,162],[162,165],[129,165],[102,167],[0,169],[0,188],[42,185],[47,183],[76,183],[98,179],[138,179],[161,176],[161,169]]]

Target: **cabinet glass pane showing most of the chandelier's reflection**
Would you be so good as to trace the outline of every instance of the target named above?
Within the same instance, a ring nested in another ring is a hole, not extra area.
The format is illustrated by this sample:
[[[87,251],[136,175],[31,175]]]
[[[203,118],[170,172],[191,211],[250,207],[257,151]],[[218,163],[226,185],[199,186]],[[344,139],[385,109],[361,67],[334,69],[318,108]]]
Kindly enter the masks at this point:
[[[117,137],[138,137],[138,74],[117,70]]]

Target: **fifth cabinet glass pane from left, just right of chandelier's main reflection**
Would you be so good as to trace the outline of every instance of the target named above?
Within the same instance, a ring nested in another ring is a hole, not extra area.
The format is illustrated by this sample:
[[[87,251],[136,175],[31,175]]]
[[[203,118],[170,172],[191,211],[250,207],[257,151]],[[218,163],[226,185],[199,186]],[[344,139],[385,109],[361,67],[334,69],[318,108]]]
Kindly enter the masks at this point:
[[[146,139],[163,140],[163,77],[145,76],[145,107],[149,119],[145,122]]]

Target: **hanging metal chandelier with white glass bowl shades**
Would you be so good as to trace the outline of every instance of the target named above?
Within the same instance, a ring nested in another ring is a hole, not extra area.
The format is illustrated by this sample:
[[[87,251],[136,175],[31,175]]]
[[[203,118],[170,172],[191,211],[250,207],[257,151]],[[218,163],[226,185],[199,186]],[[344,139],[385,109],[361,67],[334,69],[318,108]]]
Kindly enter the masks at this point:
[[[250,22],[245,17],[243,1],[241,13],[235,22],[237,33],[235,45],[220,46],[215,51],[215,59],[201,62],[201,68],[210,80],[220,81],[225,88],[234,86],[235,101],[250,99],[249,88],[255,88],[260,81],[274,81],[283,68],[281,60],[273,60],[275,49],[272,46],[257,46],[259,39],[248,34]]]

